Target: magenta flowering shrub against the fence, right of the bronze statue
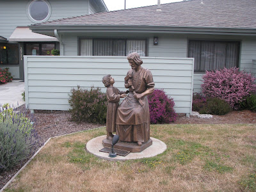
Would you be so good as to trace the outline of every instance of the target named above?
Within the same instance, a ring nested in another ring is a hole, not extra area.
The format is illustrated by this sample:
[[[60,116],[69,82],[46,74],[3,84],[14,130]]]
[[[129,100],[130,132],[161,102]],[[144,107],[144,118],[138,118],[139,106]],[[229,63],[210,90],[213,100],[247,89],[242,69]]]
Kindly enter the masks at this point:
[[[175,122],[177,114],[173,109],[173,99],[169,98],[164,90],[155,89],[148,96],[148,104],[151,124],[169,124],[170,122]]]

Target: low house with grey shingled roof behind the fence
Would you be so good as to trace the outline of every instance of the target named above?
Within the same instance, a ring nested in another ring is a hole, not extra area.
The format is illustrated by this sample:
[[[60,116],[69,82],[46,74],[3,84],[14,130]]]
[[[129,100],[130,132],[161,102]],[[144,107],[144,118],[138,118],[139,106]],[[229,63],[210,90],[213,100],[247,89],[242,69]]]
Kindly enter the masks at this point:
[[[255,7],[255,0],[191,0],[52,20],[30,29],[49,36],[58,31],[64,56],[137,51],[195,58],[194,92],[200,92],[205,70],[239,67],[255,73]]]

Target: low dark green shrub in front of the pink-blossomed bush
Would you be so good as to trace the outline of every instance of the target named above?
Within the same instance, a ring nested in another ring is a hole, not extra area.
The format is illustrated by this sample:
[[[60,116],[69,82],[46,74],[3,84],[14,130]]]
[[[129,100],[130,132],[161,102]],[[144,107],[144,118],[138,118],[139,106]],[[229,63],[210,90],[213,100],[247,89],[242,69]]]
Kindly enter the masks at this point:
[[[224,100],[214,98],[206,99],[205,106],[200,109],[200,114],[225,115],[231,111],[230,105]]]

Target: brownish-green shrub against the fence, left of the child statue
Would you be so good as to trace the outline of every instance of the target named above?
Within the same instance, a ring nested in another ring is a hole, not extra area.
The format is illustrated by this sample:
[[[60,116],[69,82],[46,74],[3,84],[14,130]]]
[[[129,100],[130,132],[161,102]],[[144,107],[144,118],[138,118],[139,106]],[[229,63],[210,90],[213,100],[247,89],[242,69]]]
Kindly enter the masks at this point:
[[[83,90],[80,86],[71,90],[68,100],[71,118],[74,122],[92,122],[105,124],[107,116],[107,97],[100,88]]]

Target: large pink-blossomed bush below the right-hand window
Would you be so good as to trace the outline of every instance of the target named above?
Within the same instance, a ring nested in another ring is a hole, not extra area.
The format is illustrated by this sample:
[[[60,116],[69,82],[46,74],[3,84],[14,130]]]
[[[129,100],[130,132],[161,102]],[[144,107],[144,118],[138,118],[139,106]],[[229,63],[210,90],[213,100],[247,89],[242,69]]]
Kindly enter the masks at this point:
[[[252,74],[239,71],[236,67],[206,71],[201,85],[202,93],[206,97],[223,99],[230,104],[231,108],[239,109],[239,102],[256,92],[254,81]]]

